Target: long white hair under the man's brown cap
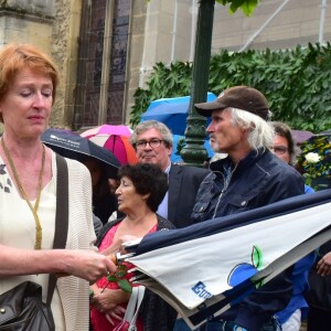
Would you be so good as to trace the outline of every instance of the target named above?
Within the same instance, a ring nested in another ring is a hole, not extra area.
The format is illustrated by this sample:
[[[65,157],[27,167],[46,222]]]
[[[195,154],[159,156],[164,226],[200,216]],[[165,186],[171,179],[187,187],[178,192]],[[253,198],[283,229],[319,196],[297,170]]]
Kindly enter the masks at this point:
[[[261,117],[237,108],[227,108],[224,111],[228,111],[233,124],[249,129],[248,143],[253,149],[266,149],[273,146],[274,128]]]

